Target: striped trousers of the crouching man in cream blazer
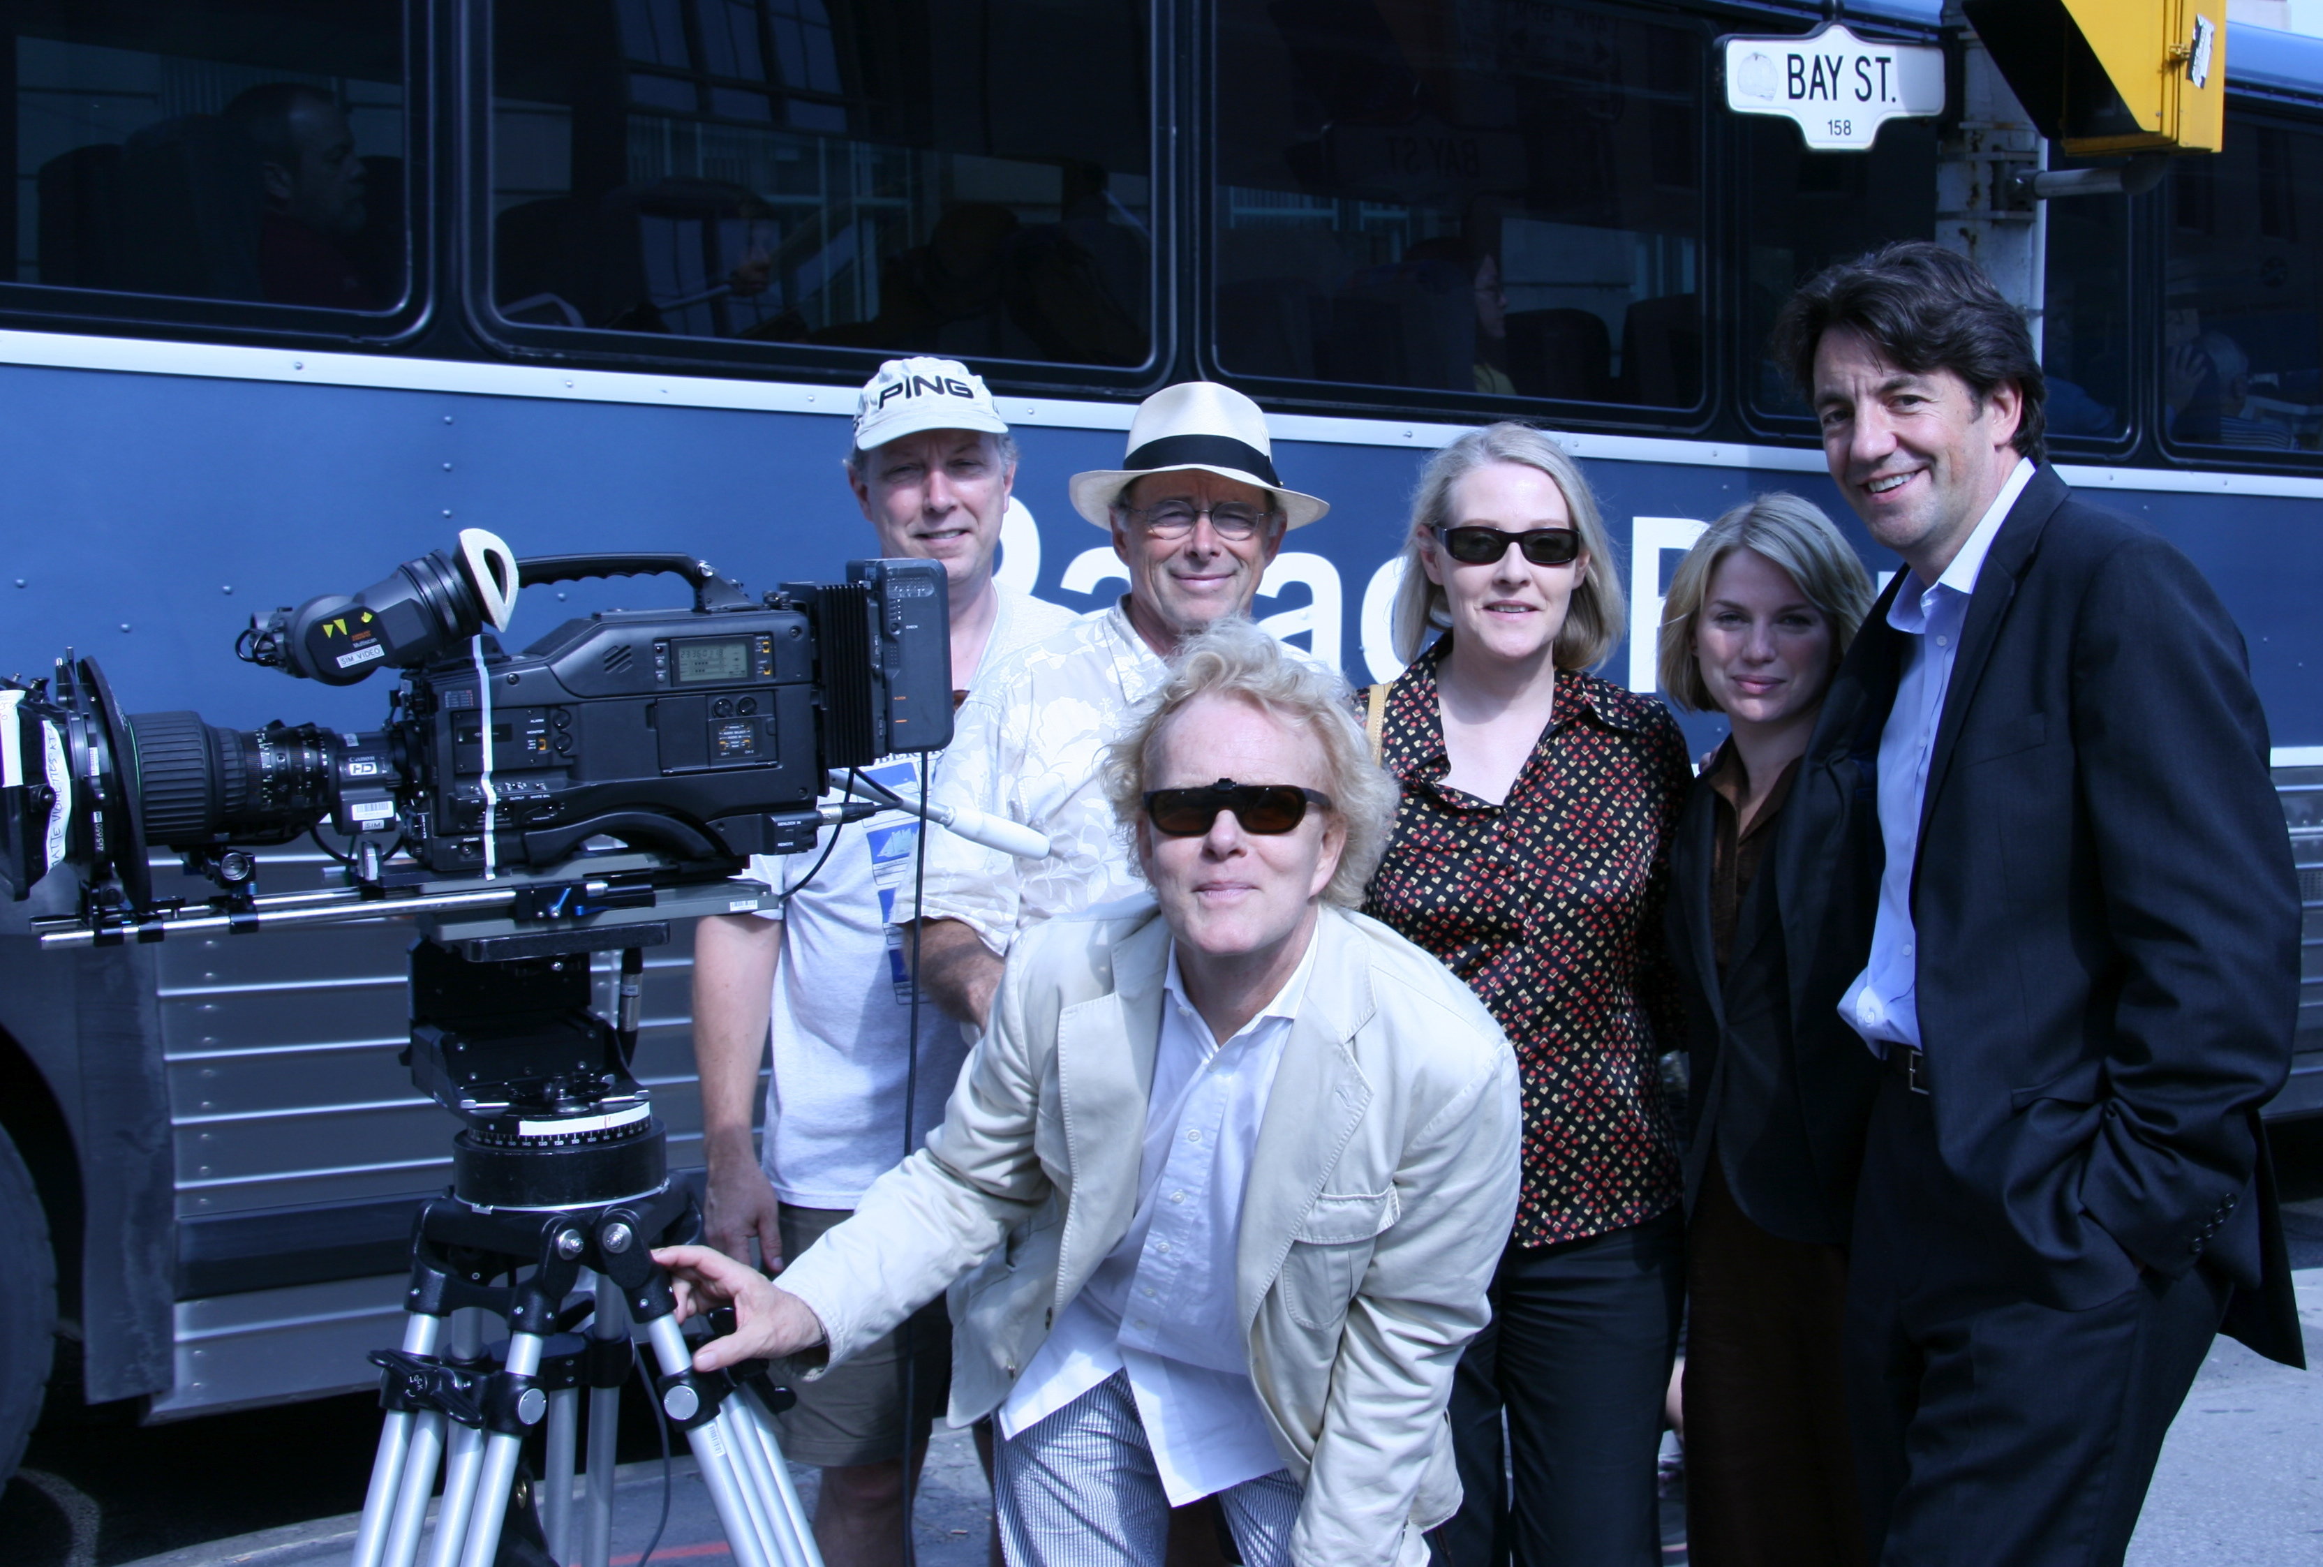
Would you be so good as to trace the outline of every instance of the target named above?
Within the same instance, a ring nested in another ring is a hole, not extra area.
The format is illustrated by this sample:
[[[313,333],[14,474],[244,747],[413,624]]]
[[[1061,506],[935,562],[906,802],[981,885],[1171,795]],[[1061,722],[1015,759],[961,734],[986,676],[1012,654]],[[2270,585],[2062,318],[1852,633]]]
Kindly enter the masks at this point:
[[[1289,1469],[1217,1493],[1247,1567],[1289,1567],[1303,1486]],[[992,1460],[1008,1567],[1162,1567],[1168,1497],[1129,1372],[999,1444]]]

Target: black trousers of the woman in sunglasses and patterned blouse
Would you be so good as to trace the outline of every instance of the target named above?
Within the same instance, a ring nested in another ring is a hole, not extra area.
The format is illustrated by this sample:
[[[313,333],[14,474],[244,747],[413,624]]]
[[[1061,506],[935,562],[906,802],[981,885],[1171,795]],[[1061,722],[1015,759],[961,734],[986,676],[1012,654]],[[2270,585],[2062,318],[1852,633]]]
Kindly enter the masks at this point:
[[[1675,1207],[1605,1235],[1501,1256],[1491,1323],[1452,1379],[1461,1509],[1431,1537],[1438,1560],[1661,1562],[1654,1451],[1684,1288]]]

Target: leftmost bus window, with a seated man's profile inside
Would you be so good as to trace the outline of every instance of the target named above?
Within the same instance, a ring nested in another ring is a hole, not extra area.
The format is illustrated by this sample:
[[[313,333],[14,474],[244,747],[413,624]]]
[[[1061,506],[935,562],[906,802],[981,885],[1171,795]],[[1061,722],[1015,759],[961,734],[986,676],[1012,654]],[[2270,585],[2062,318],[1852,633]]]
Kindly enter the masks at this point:
[[[402,302],[400,5],[7,14],[14,281],[339,311]]]

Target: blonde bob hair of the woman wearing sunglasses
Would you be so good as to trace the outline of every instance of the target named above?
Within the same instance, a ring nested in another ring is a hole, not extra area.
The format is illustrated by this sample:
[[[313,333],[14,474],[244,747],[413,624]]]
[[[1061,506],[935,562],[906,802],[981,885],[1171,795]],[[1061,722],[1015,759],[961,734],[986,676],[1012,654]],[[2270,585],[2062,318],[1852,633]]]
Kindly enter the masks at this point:
[[[1429,580],[1419,555],[1436,548],[1433,529],[1459,522],[1452,515],[1452,490],[1459,481],[1494,462],[1540,469],[1566,497],[1566,511],[1573,513],[1573,532],[1582,536],[1589,569],[1573,583],[1566,624],[1556,634],[1556,666],[1589,669],[1628,629],[1621,585],[1614,580],[1612,539],[1605,536],[1605,518],[1598,515],[1589,481],[1582,478],[1580,464],[1566,455],[1556,436],[1515,423],[1470,429],[1419,469],[1419,490],[1412,494],[1412,532],[1403,539],[1403,587],[1396,590],[1396,611],[1389,620],[1396,657],[1405,664],[1415,662],[1438,634],[1452,627],[1452,601],[1443,587]]]

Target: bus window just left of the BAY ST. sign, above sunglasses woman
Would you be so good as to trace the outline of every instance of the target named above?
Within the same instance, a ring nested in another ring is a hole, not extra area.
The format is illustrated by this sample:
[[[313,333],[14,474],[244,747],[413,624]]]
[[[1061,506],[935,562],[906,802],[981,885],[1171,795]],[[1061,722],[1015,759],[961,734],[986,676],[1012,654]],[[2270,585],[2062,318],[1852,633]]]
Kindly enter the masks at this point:
[[[1700,404],[1705,37],[1610,5],[1222,0],[1220,364]]]

